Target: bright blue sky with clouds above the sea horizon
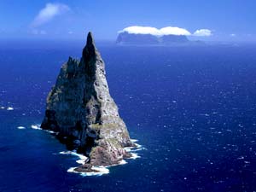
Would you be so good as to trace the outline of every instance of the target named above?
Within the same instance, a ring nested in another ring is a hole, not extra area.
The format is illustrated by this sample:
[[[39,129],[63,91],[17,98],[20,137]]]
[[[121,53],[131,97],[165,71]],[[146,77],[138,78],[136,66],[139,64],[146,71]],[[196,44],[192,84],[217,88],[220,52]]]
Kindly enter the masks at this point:
[[[0,38],[84,39],[91,31],[114,40],[128,28],[256,42],[255,10],[254,0],[0,0]]]

